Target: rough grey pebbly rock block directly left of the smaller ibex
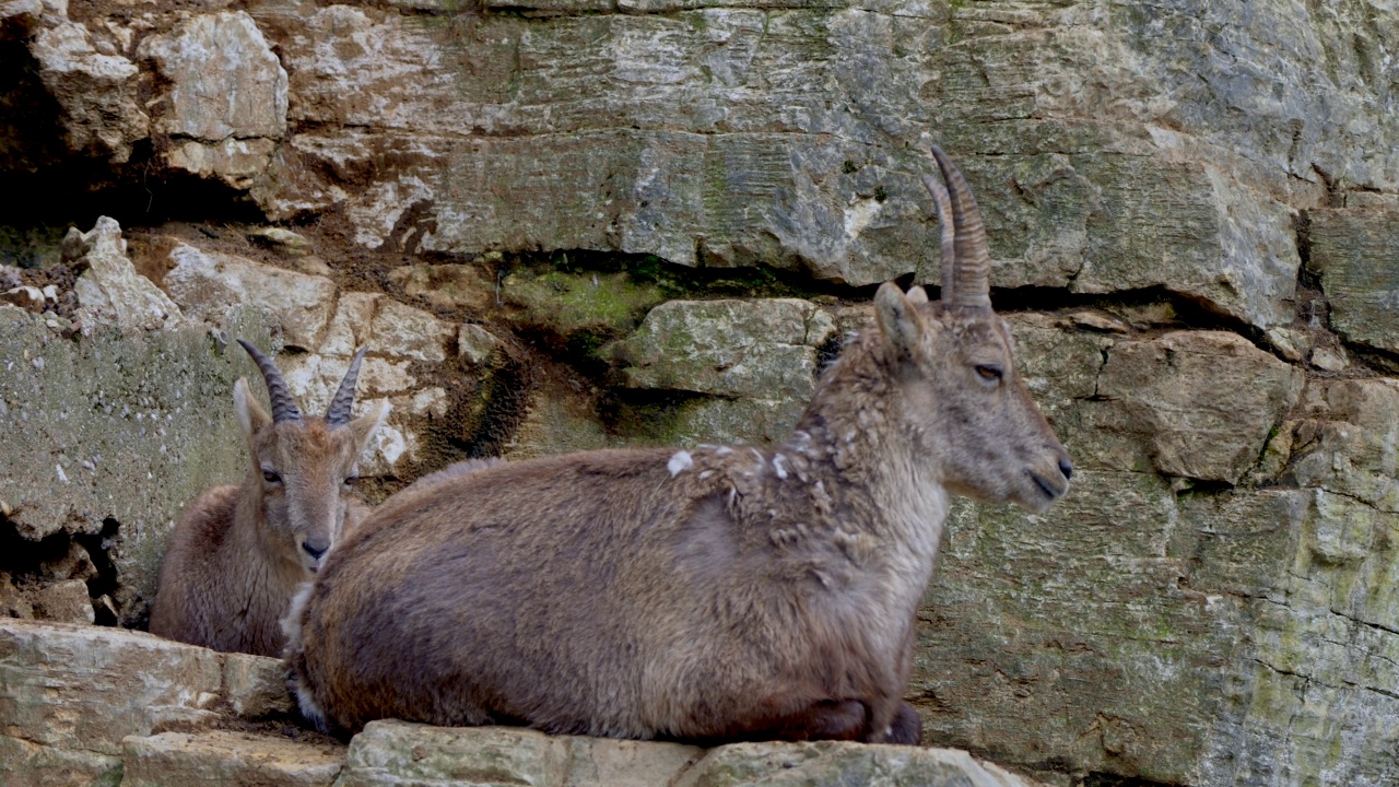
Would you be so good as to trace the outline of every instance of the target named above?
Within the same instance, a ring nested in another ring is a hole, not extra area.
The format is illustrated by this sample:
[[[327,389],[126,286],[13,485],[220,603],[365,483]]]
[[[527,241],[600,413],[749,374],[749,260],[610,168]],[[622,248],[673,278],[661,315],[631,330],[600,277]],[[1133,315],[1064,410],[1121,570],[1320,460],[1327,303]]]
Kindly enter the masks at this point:
[[[267,336],[257,314],[234,325]],[[246,472],[229,392],[257,372],[239,354],[194,326],[95,325],[73,342],[0,305],[0,431],[10,436],[0,511],[32,541],[116,525],[109,557],[123,619],[141,618],[180,508]]]

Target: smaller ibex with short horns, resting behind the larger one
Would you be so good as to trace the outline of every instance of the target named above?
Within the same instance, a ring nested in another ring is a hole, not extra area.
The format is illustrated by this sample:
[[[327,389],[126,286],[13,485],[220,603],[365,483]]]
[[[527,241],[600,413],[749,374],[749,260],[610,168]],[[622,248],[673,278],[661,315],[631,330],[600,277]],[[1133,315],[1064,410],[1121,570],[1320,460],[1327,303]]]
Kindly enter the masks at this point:
[[[301,583],[365,507],[351,486],[388,402],[351,420],[355,354],[325,419],[302,417],[271,358],[239,339],[262,370],[271,416],[234,385],[234,409],[252,455],[242,486],[200,494],[180,515],[161,566],[151,633],[210,647],[278,655],[278,620]]]

